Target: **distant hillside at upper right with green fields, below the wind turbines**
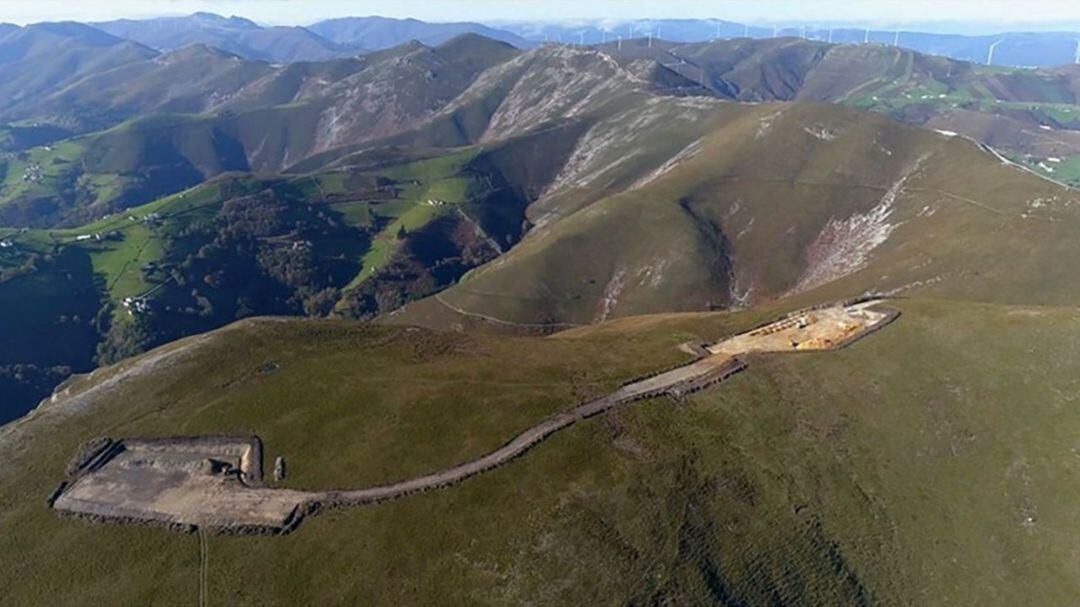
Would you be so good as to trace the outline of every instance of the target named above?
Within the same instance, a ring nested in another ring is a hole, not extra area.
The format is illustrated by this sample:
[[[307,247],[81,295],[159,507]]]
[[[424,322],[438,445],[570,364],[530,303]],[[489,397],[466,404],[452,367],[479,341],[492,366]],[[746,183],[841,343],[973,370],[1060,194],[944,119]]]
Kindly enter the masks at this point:
[[[656,60],[723,98],[838,103],[959,133],[1044,176],[1080,184],[1069,160],[1080,156],[1071,67],[985,68],[879,44],[797,38],[685,45],[633,41],[604,49],[621,63]]]

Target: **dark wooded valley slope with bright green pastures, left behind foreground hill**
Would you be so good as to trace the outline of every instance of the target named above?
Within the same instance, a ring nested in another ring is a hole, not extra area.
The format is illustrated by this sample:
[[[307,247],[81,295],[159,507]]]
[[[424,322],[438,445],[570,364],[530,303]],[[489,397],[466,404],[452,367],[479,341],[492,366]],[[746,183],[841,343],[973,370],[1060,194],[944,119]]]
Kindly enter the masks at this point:
[[[524,194],[481,153],[231,174],[78,228],[0,229],[0,300],[26,308],[0,337],[25,378],[0,386],[4,419],[71,370],[235,319],[369,318],[451,284],[521,237]]]

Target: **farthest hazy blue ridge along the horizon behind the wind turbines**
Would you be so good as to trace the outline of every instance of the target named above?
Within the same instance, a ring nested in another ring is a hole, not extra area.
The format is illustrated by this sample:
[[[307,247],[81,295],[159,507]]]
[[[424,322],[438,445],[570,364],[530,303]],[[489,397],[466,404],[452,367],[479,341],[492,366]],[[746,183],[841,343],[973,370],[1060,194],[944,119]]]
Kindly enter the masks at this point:
[[[544,42],[603,44],[657,38],[670,42],[710,42],[720,39],[797,38],[836,44],[876,43],[923,54],[1011,67],[1056,67],[1077,63],[1076,32],[1003,31],[961,36],[909,30],[762,27],[721,19],[623,19],[558,22],[428,23],[379,16],[341,17],[306,27],[261,26],[249,19],[213,13],[148,19],[119,19],[89,24],[118,38],[158,51],[206,44],[247,59],[271,63],[321,62],[351,57],[416,40],[441,44],[461,33],[476,33],[528,50]],[[0,36],[16,29],[0,24]],[[993,48],[993,52],[991,52]]]

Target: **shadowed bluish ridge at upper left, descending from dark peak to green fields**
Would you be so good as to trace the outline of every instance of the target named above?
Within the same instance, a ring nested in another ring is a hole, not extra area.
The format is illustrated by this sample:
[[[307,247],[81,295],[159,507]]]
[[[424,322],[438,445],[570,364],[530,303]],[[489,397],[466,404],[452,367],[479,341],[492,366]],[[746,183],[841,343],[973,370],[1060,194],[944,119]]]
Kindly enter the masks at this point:
[[[363,59],[272,67],[195,46],[105,72],[51,98],[53,111],[90,108],[90,120],[103,121],[144,117],[0,160],[8,176],[0,222],[78,225],[221,172],[280,172],[346,144],[386,138],[424,123],[514,53],[465,37],[434,49],[414,44]],[[138,78],[125,79],[129,72]],[[172,85],[163,90],[164,82]],[[218,94],[198,93],[208,86]],[[141,89],[146,95],[125,94]],[[214,111],[164,113],[199,106]]]

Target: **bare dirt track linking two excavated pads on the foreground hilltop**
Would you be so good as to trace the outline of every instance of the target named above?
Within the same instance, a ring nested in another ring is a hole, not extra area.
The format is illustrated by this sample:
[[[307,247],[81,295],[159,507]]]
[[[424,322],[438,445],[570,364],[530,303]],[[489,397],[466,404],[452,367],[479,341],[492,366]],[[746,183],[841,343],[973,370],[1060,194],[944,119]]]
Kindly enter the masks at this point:
[[[150,523],[177,530],[286,534],[323,508],[361,505],[436,489],[486,472],[555,432],[612,407],[653,396],[676,399],[745,368],[752,352],[811,352],[842,348],[892,322],[900,312],[881,299],[801,310],[717,343],[697,346],[699,359],[558,414],[499,449],[445,470],[355,490],[302,491],[262,483],[257,437],[102,439],[86,445],[49,498],[58,512],[97,521]]]

